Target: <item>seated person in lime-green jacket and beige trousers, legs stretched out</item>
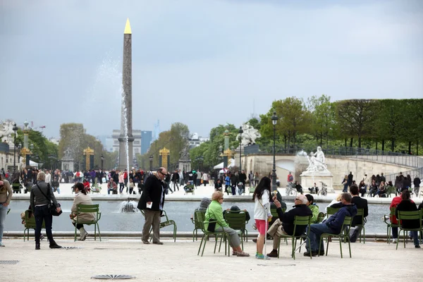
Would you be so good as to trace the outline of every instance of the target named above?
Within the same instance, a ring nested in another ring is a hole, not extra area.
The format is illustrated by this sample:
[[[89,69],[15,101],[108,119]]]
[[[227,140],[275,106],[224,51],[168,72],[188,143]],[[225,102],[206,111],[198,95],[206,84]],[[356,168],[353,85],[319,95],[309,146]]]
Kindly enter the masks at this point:
[[[226,232],[229,235],[229,244],[232,247],[233,255],[237,257],[250,257],[249,254],[243,252],[241,249],[241,241],[238,233],[229,228],[228,223],[223,219],[223,210],[221,204],[223,203],[223,192],[216,191],[212,195],[212,202],[206,212],[206,221],[217,221],[214,231]],[[209,230],[209,224],[205,223],[204,227]]]

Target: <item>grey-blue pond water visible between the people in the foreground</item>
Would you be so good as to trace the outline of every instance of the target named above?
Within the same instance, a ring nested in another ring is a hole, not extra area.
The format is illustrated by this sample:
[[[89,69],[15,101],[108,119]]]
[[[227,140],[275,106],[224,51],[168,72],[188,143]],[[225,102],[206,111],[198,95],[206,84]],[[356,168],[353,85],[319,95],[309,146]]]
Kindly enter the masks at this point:
[[[141,213],[122,214],[119,212],[121,201],[93,201],[94,204],[100,204],[102,212],[102,219],[99,221],[100,231],[135,231],[141,232],[144,218]],[[72,201],[65,200],[60,202],[63,209],[61,216],[54,216],[53,231],[74,231],[74,227],[69,219],[71,213]],[[176,221],[178,231],[191,231],[193,224],[190,216],[194,209],[198,207],[199,202],[165,202],[164,209],[169,219]],[[293,202],[286,202],[288,210],[292,209]],[[250,212],[251,218],[254,213],[253,202],[223,202],[223,209],[229,209],[232,205],[237,205],[240,209],[247,209]],[[324,212],[328,203],[318,203],[320,212]],[[29,201],[16,200],[12,201],[9,207],[11,212],[6,216],[5,231],[23,231],[23,225],[20,223],[20,213],[24,212],[29,206]],[[388,204],[369,204],[369,216],[367,216],[366,233],[386,233],[386,224],[383,221],[384,214],[388,214]],[[247,224],[247,230],[252,229],[254,219],[250,219]],[[88,227],[89,230],[94,230],[93,226]],[[161,229],[162,231],[172,231],[172,227]]]

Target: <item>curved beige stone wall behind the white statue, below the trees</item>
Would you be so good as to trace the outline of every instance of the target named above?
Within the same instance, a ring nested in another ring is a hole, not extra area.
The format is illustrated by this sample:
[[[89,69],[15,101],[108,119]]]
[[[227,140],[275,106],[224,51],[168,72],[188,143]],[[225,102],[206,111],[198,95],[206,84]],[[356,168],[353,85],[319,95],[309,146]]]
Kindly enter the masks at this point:
[[[367,176],[373,174],[399,173],[412,169],[409,166],[399,166],[397,164],[387,164],[378,161],[370,161],[365,159],[349,159],[346,157],[326,157],[326,164],[329,171],[333,174],[333,187],[341,188],[341,182],[345,174],[353,173],[354,180],[361,180],[364,173]],[[291,155],[276,156],[276,175],[281,181],[281,187],[287,184],[287,176],[289,171],[293,173],[294,180],[300,181],[300,174],[308,166],[307,158],[295,157]],[[247,155],[242,157],[242,167],[245,171],[257,171],[259,176],[268,176],[273,168],[273,156],[271,155]]]

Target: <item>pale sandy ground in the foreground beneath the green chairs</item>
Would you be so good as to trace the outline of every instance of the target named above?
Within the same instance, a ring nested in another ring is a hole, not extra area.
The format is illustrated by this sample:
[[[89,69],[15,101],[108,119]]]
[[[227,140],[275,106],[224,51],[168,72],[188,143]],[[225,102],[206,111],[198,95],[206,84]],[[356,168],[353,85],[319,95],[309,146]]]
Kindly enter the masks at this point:
[[[84,242],[58,238],[63,247],[78,249],[49,250],[46,240],[42,250],[35,250],[32,240],[4,240],[0,260],[18,260],[17,264],[0,264],[1,281],[95,281],[100,274],[135,276],[128,281],[419,281],[423,250],[411,243],[395,250],[395,245],[366,242],[353,243],[353,258],[348,257],[348,245],[330,243],[327,257],[290,258],[290,244],[281,245],[281,258],[257,260],[255,243],[244,244],[252,257],[227,257],[213,254],[211,240],[204,256],[197,256],[200,241],[164,239],[164,245],[144,245],[140,239],[110,239]],[[267,250],[271,242],[267,243]],[[343,276],[345,272],[345,276]]]

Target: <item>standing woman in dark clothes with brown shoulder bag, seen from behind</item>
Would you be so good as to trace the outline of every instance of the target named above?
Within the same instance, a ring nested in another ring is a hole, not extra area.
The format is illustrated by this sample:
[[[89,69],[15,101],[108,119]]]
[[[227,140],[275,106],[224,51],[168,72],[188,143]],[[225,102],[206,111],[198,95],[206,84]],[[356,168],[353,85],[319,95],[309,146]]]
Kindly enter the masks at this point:
[[[31,188],[30,204],[31,210],[35,216],[35,250],[39,250],[39,238],[41,235],[42,222],[44,221],[46,226],[47,238],[49,238],[50,248],[59,249],[61,246],[57,245],[53,239],[53,233],[51,233],[51,225],[53,223],[53,216],[51,214],[51,202],[56,207],[56,212],[60,213],[61,208],[54,197],[51,186],[45,182],[46,175],[44,172],[39,171],[37,175],[37,184]]]

